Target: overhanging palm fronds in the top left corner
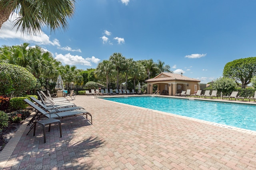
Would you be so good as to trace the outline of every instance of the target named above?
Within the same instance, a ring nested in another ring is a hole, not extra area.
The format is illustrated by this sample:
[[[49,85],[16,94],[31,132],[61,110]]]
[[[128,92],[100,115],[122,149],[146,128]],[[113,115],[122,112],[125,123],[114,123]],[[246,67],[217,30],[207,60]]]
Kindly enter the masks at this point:
[[[75,3],[76,0],[0,0],[0,28],[11,14],[17,13],[19,18],[14,25],[21,27],[22,33],[40,33],[44,25],[51,31],[66,29]]]

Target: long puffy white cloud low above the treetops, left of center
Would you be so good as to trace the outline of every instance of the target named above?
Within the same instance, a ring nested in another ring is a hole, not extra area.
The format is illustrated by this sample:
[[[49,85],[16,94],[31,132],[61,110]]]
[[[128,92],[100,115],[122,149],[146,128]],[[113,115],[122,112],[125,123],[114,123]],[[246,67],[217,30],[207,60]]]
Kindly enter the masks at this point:
[[[92,56],[92,58],[86,58],[84,59],[82,56],[78,55],[71,55],[70,53],[68,54],[57,54],[55,53],[56,57],[55,59],[60,61],[62,64],[68,64],[68,65],[85,65],[85,66],[92,66],[91,62],[96,63],[100,61],[100,59],[95,58]]]

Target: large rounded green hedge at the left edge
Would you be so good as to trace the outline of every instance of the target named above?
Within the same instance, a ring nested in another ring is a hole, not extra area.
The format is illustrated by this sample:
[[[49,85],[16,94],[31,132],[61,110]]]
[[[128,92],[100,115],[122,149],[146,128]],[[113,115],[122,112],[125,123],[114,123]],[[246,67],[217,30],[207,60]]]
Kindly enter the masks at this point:
[[[22,96],[26,91],[32,90],[36,86],[36,78],[33,74],[31,74],[26,68],[8,64],[8,63],[0,63],[0,79],[7,77],[4,81],[12,84],[12,92],[10,94],[2,94],[8,95],[12,97]],[[2,80],[0,80],[2,82]],[[8,86],[6,87],[8,88]],[[8,90],[6,90],[8,92]]]

